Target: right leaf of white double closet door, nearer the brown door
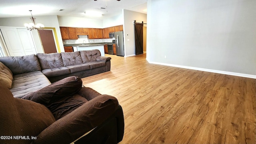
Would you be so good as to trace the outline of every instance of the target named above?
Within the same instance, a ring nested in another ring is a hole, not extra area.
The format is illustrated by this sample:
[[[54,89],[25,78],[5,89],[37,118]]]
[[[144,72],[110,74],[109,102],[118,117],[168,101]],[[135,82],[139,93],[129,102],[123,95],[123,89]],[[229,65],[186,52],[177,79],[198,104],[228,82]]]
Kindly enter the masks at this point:
[[[25,55],[36,54],[31,33],[26,28],[17,28]]]

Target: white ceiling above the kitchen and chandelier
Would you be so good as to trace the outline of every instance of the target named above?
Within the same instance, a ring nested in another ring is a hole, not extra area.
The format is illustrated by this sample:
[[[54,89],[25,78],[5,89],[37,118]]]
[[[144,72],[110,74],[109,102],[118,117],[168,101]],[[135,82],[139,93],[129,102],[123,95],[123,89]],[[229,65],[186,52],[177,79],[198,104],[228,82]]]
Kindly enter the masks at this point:
[[[31,16],[29,10],[32,10],[34,17],[57,15],[105,19],[121,14],[122,9],[146,14],[146,8],[147,0],[0,0],[0,18]],[[88,11],[102,16],[86,16]]]

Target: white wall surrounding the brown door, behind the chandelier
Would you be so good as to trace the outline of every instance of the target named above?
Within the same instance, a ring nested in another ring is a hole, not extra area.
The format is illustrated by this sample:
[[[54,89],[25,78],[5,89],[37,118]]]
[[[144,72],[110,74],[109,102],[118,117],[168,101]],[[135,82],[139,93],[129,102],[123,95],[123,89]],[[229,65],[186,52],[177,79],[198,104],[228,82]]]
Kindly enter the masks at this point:
[[[10,27],[24,27],[24,23],[31,22],[30,17],[18,17],[18,18],[0,18],[0,26]],[[56,28],[58,42],[60,44],[60,50],[64,52],[64,46],[62,44],[62,38],[60,34],[60,26],[57,16],[36,16],[36,23],[42,23],[45,27]],[[43,52],[41,41],[37,30],[32,30],[32,35],[36,44],[38,53]]]

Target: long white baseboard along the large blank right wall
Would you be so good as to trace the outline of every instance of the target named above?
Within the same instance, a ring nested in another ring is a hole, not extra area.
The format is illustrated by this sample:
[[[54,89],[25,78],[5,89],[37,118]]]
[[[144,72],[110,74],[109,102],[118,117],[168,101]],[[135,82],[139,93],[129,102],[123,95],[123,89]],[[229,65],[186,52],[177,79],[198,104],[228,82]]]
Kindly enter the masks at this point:
[[[241,77],[245,77],[245,78],[256,79],[256,75],[251,75],[251,74],[241,74],[241,73],[236,73],[236,72],[226,72],[226,71],[221,71],[221,70],[211,70],[211,69],[206,69],[206,68],[196,68],[196,67],[191,67],[191,66],[166,64],[166,63],[161,63],[161,62],[150,62],[150,61],[148,61],[148,62],[150,64],[160,64],[160,65],[164,65],[164,66],[173,66],[173,67],[178,67],[178,68],[187,68],[187,69],[191,69],[191,70],[200,70],[200,71],[204,71],[204,72],[214,72],[214,73],[218,73],[218,74],[227,74],[227,75],[231,75],[231,76],[241,76]]]

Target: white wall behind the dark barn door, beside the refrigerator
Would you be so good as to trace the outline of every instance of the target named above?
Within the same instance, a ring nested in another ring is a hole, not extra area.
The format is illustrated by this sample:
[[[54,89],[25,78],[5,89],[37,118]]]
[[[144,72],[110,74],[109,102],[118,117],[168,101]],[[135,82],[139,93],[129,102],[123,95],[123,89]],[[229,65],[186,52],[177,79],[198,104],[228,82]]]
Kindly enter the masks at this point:
[[[135,55],[135,34],[134,34],[133,21],[136,20],[136,22],[143,21],[144,23],[147,23],[147,14],[134,12],[130,10],[123,10],[123,14],[124,14],[124,55],[133,56]]]

